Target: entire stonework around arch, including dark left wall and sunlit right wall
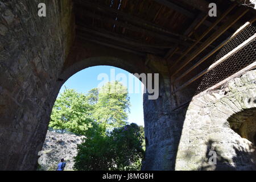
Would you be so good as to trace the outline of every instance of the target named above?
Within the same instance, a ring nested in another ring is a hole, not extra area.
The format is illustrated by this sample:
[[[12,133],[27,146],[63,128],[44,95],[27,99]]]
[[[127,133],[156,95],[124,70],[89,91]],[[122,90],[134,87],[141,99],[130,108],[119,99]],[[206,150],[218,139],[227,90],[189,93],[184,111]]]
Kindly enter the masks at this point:
[[[48,7],[47,18],[38,16],[40,2]],[[144,94],[143,169],[255,169],[255,146],[234,131],[251,139],[254,125],[244,124],[244,113],[232,117],[256,107],[255,71],[172,110],[175,97],[183,96],[170,92],[166,60],[81,42],[71,0],[2,0],[0,7],[0,170],[36,169],[61,85],[96,65],[160,73],[158,100]],[[210,150],[219,154],[216,166],[208,163]]]

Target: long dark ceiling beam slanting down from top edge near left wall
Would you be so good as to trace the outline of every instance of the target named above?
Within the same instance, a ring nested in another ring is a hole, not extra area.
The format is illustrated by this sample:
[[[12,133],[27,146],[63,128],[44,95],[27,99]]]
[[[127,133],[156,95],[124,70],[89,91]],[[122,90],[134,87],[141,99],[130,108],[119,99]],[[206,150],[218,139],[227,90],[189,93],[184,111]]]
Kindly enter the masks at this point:
[[[137,16],[133,16],[133,15],[124,13],[123,11],[115,10],[111,7],[99,5],[97,3],[94,3],[94,2],[91,2],[91,1],[88,1],[88,0],[74,0],[74,1],[78,6],[87,6],[87,7],[102,11],[104,13],[106,13],[106,12],[113,13],[113,14],[115,14],[115,16],[118,16],[119,19],[123,18],[123,19],[127,20],[127,22],[133,22],[134,24],[138,24],[138,26],[143,26],[143,27],[145,27],[145,28],[147,28],[148,30],[151,30],[151,31],[161,32],[161,33],[164,33],[164,34],[167,34],[167,35],[178,36],[179,38],[183,38],[183,39],[187,38],[188,40],[191,40],[191,39],[189,39],[188,37],[186,37],[184,35],[176,34],[174,32],[166,30],[166,28],[160,27],[158,24],[155,24],[155,23],[149,22],[147,20],[138,18]]]

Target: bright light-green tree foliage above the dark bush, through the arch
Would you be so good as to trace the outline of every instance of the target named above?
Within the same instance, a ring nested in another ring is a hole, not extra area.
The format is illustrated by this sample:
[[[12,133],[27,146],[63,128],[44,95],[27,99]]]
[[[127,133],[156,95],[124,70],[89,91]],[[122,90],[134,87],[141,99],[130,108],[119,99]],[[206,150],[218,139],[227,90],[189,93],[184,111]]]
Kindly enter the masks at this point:
[[[85,135],[96,122],[101,129],[112,130],[126,125],[129,107],[127,88],[119,82],[108,82],[86,95],[65,88],[53,106],[49,127]]]

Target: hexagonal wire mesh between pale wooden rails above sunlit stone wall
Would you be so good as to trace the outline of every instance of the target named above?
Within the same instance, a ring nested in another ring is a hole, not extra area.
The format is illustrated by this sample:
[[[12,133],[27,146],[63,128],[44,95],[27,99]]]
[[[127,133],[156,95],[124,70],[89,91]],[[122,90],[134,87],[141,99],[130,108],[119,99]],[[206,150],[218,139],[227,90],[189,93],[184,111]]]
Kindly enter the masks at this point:
[[[234,48],[245,42],[251,36],[256,33],[256,24],[251,24],[242,30],[234,38],[230,39],[229,42],[221,49],[217,56],[215,56],[213,63],[221,59],[227,53],[232,51]],[[209,59],[213,59],[210,57]],[[256,61],[256,39],[245,47],[240,49],[240,51],[234,53],[228,59],[218,64],[215,68],[207,72],[203,79],[201,80],[199,86],[197,86],[196,94],[207,90],[213,85],[216,85],[218,82],[232,76],[234,73],[245,68],[247,65],[254,63]]]

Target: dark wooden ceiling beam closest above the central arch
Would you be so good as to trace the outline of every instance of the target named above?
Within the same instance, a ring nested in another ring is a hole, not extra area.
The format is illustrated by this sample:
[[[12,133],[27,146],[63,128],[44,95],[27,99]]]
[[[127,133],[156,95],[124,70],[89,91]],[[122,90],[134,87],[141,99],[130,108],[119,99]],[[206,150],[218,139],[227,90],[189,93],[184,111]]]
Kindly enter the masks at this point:
[[[100,30],[100,28],[77,26],[77,30],[79,30],[81,32],[87,32],[89,34],[93,34],[93,35],[97,35],[97,36],[102,36],[104,38],[115,40],[115,41],[121,42],[123,44],[127,44],[127,45],[132,46],[135,49],[141,50],[143,52],[157,54],[157,55],[163,54],[163,51],[161,51],[159,49],[155,49],[156,46],[154,46],[154,45],[147,45],[147,44],[139,43],[133,39],[128,39],[123,36],[120,36],[119,34],[114,34],[113,32],[109,32],[106,30]]]

